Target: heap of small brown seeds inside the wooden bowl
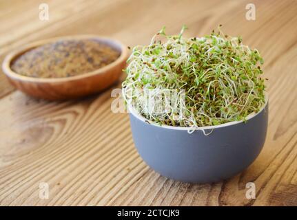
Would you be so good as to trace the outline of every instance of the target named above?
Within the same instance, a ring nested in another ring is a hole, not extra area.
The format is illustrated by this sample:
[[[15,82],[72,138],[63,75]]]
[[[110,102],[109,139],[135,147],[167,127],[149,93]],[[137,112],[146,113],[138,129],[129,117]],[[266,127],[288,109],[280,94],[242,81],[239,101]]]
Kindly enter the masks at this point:
[[[11,68],[23,76],[61,78],[92,72],[119,56],[120,52],[96,39],[61,40],[25,52]]]

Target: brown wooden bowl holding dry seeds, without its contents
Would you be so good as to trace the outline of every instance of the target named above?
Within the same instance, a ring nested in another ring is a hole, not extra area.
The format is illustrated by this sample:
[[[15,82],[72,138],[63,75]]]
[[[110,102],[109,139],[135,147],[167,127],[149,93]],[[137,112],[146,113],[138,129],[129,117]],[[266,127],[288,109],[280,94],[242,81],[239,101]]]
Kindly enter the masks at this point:
[[[16,58],[28,50],[32,50],[34,47],[39,47],[46,43],[53,43],[54,41],[73,39],[96,39],[100,43],[104,43],[118,50],[121,52],[121,55],[116,61],[100,69],[78,76],[63,78],[34,78],[22,76],[13,72],[10,68]],[[4,59],[2,69],[4,74],[8,77],[8,80],[10,80],[10,83],[25,94],[47,100],[67,100],[94,94],[110,87],[110,85],[114,84],[121,76],[122,70],[125,68],[127,56],[127,47],[112,39],[94,35],[65,36],[30,43],[19,48],[19,50],[11,52]]]

